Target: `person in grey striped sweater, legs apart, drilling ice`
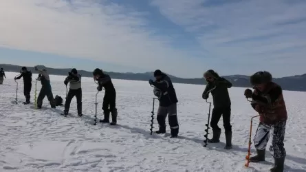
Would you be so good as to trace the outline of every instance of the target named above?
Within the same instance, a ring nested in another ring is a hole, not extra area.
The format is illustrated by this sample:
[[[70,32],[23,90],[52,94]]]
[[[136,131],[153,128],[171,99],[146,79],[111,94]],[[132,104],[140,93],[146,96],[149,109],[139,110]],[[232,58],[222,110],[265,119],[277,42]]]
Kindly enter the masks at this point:
[[[70,108],[70,103],[72,98],[76,96],[76,103],[78,109],[78,116],[82,116],[82,88],[81,88],[81,76],[78,74],[76,69],[72,69],[71,72],[68,72],[69,76],[65,79],[64,83],[69,85],[69,92],[65,102],[64,115],[67,116]]]

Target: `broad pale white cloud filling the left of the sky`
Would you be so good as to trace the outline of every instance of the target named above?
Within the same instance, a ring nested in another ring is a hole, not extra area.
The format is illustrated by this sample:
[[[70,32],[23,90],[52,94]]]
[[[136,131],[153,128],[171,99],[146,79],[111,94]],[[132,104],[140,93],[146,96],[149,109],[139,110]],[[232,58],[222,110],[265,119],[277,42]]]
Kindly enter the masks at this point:
[[[202,72],[201,61],[156,36],[146,13],[106,1],[0,0],[0,46],[89,58],[120,65]],[[195,73],[193,73],[195,74]],[[201,74],[199,74],[201,76]]]

